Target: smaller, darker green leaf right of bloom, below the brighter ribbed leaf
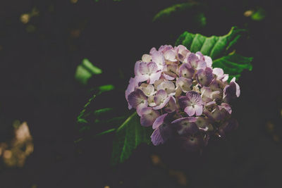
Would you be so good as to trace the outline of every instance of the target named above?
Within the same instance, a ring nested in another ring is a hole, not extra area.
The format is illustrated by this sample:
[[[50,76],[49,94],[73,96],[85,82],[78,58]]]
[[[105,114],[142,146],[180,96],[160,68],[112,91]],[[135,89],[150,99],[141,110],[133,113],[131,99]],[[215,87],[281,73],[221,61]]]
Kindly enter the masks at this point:
[[[252,58],[247,58],[240,56],[239,54],[231,54],[228,56],[223,56],[222,58],[216,59],[212,66],[214,68],[222,68],[224,73],[229,75],[229,80],[233,77],[240,77],[240,73],[243,70],[252,70]]]

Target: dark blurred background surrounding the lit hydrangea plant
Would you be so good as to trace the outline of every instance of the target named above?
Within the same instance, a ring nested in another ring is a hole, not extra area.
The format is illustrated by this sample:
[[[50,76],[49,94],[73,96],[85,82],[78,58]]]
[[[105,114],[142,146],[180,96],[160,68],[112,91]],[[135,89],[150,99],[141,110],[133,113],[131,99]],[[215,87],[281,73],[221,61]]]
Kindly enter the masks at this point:
[[[190,1],[203,5],[206,25],[193,22],[189,11],[152,22],[161,9],[182,2],[1,1],[0,141],[11,137],[13,120],[27,121],[35,151],[23,168],[1,167],[0,187],[281,187],[281,6],[271,0]],[[22,23],[20,15],[34,7],[38,15]],[[244,16],[256,8],[266,11],[263,20]],[[238,81],[241,96],[233,104],[240,126],[226,140],[209,142],[201,156],[141,145],[114,169],[114,134],[73,143],[76,117],[92,87],[114,84],[122,94],[113,94],[112,105],[128,111],[123,91],[142,54],[173,45],[185,30],[225,35],[233,25],[248,30],[236,49],[254,61]],[[104,71],[87,86],[74,77],[83,58]]]

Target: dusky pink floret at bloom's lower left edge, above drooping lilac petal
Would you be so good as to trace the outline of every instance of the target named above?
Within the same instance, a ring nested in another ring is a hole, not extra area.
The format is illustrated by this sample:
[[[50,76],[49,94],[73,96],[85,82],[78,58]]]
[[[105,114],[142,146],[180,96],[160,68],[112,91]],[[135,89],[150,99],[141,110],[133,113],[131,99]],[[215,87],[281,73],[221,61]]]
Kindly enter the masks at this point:
[[[142,108],[140,111],[140,123],[142,126],[148,127],[153,125],[154,121],[159,117],[159,112],[154,111],[152,108]]]

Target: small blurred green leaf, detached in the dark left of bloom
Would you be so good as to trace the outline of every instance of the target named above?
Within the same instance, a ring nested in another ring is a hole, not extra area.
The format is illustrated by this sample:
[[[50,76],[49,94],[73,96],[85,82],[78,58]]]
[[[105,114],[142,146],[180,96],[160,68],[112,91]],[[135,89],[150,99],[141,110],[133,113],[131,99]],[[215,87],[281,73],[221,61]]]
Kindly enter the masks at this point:
[[[102,70],[100,68],[94,66],[87,58],[84,58],[82,63],[76,68],[75,79],[82,84],[87,84],[92,75],[99,75],[101,73]]]

